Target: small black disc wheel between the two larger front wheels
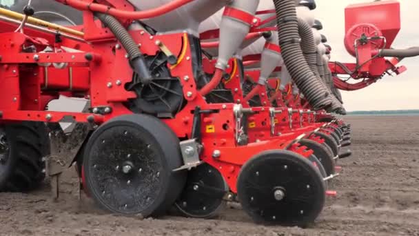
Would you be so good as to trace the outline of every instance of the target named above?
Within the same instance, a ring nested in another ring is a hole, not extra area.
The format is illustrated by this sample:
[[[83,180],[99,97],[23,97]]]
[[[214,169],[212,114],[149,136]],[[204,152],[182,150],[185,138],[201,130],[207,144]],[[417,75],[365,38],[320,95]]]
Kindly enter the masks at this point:
[[[223,197],[227,191],[221,173],[209,164],[202,164],[187,173],[187,184],[174,206],[185,217],[213,218],[225,208]]]

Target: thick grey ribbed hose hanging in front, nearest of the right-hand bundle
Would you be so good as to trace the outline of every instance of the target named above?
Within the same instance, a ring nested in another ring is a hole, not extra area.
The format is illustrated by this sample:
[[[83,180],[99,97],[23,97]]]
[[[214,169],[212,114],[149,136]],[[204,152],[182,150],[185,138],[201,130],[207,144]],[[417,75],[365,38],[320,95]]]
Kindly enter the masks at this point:
[[[294,0],[274,0],[278,37],[289,73],[314,110],[328,108],[331,100],[322,84],[311,72],[300,48],[298,20]]]

